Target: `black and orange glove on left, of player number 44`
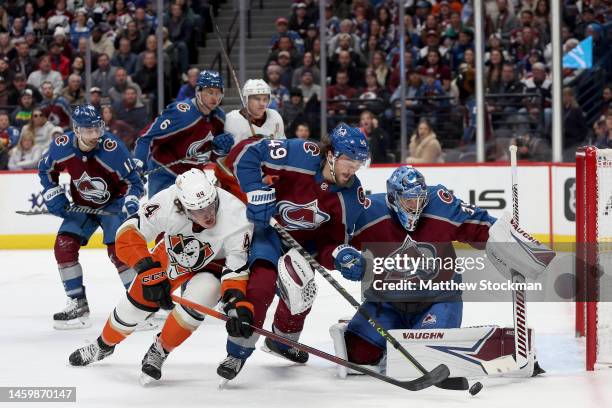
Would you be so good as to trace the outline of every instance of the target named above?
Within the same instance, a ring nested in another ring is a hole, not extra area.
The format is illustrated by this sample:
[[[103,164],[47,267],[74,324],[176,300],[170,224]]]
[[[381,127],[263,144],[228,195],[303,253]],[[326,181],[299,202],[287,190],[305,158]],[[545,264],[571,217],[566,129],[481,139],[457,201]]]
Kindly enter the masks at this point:
[[[162,309],[171,310],[174,307],[170,297],[170,282],[161,264],[151,257],[143,258],[134,270],[142,283],[142,297],[149,302],[157,302]]]

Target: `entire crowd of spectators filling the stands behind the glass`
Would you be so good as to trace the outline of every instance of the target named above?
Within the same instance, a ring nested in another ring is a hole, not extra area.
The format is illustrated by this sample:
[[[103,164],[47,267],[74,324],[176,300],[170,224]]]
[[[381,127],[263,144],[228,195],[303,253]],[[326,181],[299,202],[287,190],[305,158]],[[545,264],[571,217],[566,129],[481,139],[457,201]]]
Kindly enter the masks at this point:
[[[229,1],[229,0],[228,0]],[[476,72],[472,0],[407,0],[405,33],[397,0],[318,1],[291,4],[276,19],[262,70],[290,137],[318,138],[320,98],[328,98],[328,126],[359,123],[373,162],[399,161],[400,104],[406,106],[409,163],[473,160],[475,79],[487,97],[487,159],[503,160],[499,141],[515,143],[521,158],[550,159],[552,122],[551,11],[553,0],[485,0],[484,72]],[[609,0],[563,1],[565,52],[593,37],[594,60],[609,54]],[[172,0],[164,10],[164,103],[194,96],[198,46],[210,31],[212,0]],[[0,1],[0,169],[36,167],[54,133],[69,128],[70,107],[86,99],[85,59],[91,52],[90,101],[106,126],[132,148],[157,106],[157,21],[146,0]],[[320,30],[327,43],[321,44]],[[399,38],[406,49],[400,71]],[[327,58],[321,60],[325,47]],[[320,86],[325,64],[326,86]],[[605,66],[604,68],[608,68]],[[573,81],[583,70],[564,70],[564,148],[612,142],[602,90],[601,117],[592,124],[576,99]],[[401,101],[401,75],[406,79]],[[610,82],[609,70],[605,73]],[[589,135],[585,139],[585,135]],[[455,152],[458,151],[460,153]]]

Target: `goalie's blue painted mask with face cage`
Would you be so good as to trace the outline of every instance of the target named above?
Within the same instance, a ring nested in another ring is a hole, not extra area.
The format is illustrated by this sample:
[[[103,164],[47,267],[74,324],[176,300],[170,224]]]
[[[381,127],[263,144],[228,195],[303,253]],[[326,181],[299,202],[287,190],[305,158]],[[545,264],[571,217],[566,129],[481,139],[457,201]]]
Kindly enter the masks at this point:
[[[414,231],[429,202],[425,177],[412,166],[395,169],[387,179],[387,205],[407,231]]]

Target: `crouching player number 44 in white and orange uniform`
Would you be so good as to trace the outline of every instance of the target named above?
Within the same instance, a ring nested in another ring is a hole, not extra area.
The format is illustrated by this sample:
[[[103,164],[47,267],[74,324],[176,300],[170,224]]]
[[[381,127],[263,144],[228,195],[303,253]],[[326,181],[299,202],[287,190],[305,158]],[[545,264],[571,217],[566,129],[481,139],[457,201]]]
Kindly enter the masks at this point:
[[[150,253],[147,242],[161,232],[164,240]],[[199,169],[180,174],[174,185],[153,196],[117,231],[117,254],[138,276],[97,341],[73,352],[70,364],[84,366],[111,355],[138,323],[160,306],[169,309],[170,294],[182,285],[183,297],[192,302],[214,307],[221,298],[225,312],[232,316],[228,333],[250,335],[253,305],[244,292],[252,233],[253,224],[240,200],[213,186]],[[182,305],[172,309],[142,360],[141,382],[161,378],[168,354],[203,320],[203,315]]]

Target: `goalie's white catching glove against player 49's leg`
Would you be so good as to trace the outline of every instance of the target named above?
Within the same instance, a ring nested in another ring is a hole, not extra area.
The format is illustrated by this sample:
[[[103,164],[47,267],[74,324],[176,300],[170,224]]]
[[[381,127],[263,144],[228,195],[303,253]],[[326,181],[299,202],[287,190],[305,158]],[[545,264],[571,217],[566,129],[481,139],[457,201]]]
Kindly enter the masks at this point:
[[[277,285],[292,315],[308,310],[317,296],[312,267],[295,248],[278,259]]]

